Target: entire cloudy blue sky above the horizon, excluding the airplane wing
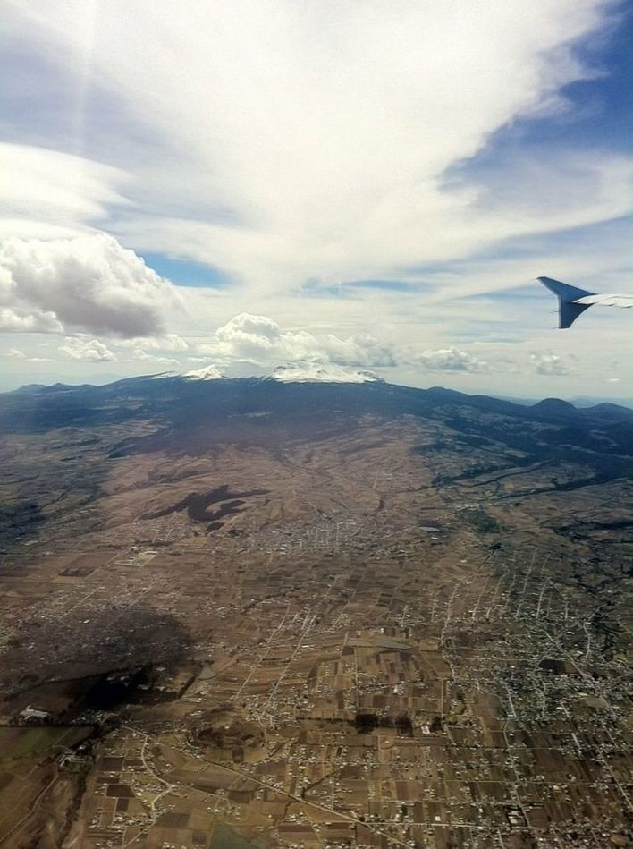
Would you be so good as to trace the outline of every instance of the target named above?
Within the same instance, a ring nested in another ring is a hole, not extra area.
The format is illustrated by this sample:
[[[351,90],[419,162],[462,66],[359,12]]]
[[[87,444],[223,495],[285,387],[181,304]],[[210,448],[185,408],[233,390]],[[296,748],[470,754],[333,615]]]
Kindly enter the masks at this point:
[[[633,12],[4,0],[0,389],[306,362],[633,398]]]

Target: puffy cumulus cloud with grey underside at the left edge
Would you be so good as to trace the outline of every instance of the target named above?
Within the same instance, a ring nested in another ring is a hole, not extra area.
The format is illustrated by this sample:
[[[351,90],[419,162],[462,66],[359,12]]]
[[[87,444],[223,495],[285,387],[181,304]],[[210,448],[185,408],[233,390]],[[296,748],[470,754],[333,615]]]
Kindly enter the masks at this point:
[[[180,302],[171,284],[104,233],[7,239],[0,268],[2,297],[10,302],[0,320],[9,329],[155,335]]]

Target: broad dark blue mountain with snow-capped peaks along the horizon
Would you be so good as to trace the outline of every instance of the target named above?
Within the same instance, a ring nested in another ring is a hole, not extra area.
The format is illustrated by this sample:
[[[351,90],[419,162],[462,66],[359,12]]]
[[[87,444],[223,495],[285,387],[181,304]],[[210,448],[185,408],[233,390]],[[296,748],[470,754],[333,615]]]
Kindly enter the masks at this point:
[[[217,444],[271,445],[326,438],[359,428],[364,417],[441,420],[462,437],[559,456],[586,452],[608,474],[614,458],[633,457],[633,411],[616,404],[576,409],[555,398],[526,406],[434,386],[394,386],[342,373],[292,378],[213,378],[191,374],[126,378],[105,386],[55,385],[0,395],[0,433],[63,427],[151,423],[151,432],[122,440],[118,451],[207,450]],[[160,378],[160,379],[156,379]],[[326,379],[333,378],[333,379]],[[628,461],[623,461],[628,468]]]

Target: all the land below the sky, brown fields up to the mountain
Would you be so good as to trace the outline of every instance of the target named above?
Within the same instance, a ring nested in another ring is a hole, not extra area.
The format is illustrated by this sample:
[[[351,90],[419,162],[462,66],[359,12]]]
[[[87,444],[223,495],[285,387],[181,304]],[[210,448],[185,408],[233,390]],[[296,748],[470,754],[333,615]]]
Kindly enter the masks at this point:
[[[0,396],[0,846],[631,841],[633,412]]]

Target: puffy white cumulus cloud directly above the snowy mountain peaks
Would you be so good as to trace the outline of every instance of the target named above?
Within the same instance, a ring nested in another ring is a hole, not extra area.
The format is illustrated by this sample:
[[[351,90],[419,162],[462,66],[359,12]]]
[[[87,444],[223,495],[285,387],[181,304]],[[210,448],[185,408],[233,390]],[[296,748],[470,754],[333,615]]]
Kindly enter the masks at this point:
[[[200,344],[201,353],[224,361],[249,361],[258,365],[320,359],[342,365],[387,367],[395,364],[390,345],[363,334],[340,338],[316,336],[306,330],[283,330],[267,316],[241,313],[215,331],[215,338]]]

